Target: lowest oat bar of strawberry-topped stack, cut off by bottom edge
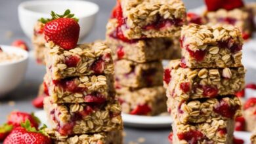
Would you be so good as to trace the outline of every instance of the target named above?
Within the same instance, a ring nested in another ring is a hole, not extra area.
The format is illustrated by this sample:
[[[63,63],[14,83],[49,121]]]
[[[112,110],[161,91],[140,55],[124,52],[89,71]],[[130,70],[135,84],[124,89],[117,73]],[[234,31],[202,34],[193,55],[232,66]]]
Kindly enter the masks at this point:
[[[55,144],[121,144],[121,131],[100,132],[96,134],[61,135],[56,130],[46,130]]]

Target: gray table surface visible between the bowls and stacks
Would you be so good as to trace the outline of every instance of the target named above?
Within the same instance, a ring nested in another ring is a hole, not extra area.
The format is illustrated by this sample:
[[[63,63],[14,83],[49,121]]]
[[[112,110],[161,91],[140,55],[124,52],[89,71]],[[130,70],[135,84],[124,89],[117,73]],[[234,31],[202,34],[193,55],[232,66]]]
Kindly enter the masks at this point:
[[[0,0],[0,44],[10,45],[14,39],[24,39],[31,46],[30,39],[28,39],[18,23],[17,7],[23,0]],[[82,42],[95,41],[96,39],[104,39],[105,26],[110,16],[112,7],[115,5],[114,0],[90,0],[97,3],[100,7],[100,12],[96,20],[95,27],[91,33],[82,40]],[[203,5],[202,0],[184,0],[187,9],[193,9]],[[13,33],[9,37],[9,33]],[[0,69],[1,71],[2,69]],[[5,117],[14,109],[20,111],[38,111],[31,105],[31,100],[37,95],[37,88],[41,84],[43,75],[45,74],[45,67],[37,65],[35,60],[30,59],[28,71],[22,84],[16,88],[5,99],[0,99],[0,124],[5,122]],[[18,71],[17,71],[18,75]],[[0,76],[1,77],[1,76]],[[249,69],[246,79],[249,81],[255,80],[253,71]],[[9,105],[9,101],[14,101],[15,105]],[[165,129],[141,129],[125,127],[126,137],[125,143],[137,141],[139,137],[146,139],[145,143],[168,143],[167,135],[171,128]]]

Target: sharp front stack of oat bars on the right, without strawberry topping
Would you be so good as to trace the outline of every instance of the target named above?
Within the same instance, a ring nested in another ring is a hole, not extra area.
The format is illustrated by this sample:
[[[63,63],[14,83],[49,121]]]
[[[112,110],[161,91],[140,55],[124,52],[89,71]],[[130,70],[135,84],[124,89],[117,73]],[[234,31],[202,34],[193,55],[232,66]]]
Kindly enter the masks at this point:
[[[182,59],[165,68],[172,143],[233,143],[234,95],[244,88],[242,35],[232,26],[190,24],[181,31]]]

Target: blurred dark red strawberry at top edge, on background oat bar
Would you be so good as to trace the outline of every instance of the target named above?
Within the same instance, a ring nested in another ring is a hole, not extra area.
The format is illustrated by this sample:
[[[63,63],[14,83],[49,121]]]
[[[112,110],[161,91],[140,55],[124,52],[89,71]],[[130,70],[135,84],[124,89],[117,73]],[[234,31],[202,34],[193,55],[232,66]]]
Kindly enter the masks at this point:
[[[242,0],[205,0],[205,5],[208,11],[215,11],[218,9],[232,10],[244,7]]]

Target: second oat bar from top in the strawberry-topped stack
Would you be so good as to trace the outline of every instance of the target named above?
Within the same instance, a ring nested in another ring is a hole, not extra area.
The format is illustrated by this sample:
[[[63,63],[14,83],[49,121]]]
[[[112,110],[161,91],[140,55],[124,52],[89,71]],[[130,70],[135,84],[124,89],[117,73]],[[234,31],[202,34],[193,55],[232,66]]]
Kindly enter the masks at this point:
[[[91,75],[53,80],[45,75],[53,103],[88,103],[114,99],[114,77]]]

